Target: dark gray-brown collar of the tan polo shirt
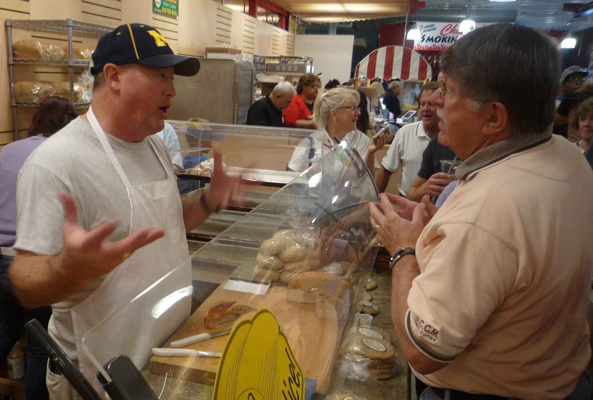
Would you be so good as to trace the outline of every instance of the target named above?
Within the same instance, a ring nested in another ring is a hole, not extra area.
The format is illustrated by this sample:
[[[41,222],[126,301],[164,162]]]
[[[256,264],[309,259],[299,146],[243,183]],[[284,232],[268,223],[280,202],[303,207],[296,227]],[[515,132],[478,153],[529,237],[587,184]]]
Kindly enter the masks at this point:
[[[510,138],[476,151],[476,153],[467,157],[467,160],[455,170],[455,177],[459,180],[466,180],[471,173],[476,172],[479,169],[497,163],[512,154],[521,153],[521,151],[544,144],[551,138],[551,125],[550,128],[540,134],[519,137],[511,136]]]

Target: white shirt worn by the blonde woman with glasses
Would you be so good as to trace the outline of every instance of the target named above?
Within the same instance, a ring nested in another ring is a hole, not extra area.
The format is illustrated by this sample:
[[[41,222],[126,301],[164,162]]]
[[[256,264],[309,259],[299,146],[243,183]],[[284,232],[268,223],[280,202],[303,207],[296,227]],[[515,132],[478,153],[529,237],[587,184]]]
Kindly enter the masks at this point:
[[[314,131],[308,137],[313,140],[310,141],[308,138],[302,139],[301,142],[299,142],[298,147],[295,148],[294,153],[292,153],[292,158],[288,163],[288,167],[293,171],[303,172],[310,167],[310,165],[317,163],[323,155],[326,155],[327,152],[330,151],[331,144],[334,143],[325,129],[323,129],[323,131],[321,129]],[[364,161],[371,139],[356,129],[355,131],[348,132],[343,140],[347,141],[353,148],[355,148]],[[313,157],[309,158],[311,148],[314,150]],[[380,165],[378,161],[375,160],[375,169],[379,167]]]

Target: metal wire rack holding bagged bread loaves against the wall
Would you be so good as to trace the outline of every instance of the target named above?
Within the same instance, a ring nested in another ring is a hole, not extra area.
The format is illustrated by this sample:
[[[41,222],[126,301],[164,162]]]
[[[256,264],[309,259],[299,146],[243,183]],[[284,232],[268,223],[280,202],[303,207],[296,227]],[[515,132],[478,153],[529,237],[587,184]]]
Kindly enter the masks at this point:
[[[48,96],[64,97],[76,108],[90,105],[91,55],[97,40],[112,27],[72,19],[7,19],[6,26],[15,140],[19,107],[36,107]]]

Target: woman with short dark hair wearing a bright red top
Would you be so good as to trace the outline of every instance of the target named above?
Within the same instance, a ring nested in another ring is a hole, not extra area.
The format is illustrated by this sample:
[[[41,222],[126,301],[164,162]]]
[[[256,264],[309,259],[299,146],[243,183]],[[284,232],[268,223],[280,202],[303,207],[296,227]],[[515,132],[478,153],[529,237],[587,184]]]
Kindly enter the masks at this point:
[[[316,128],[315,122],[313,122],[313,104],[320,88],[319,77],[315,74],[304,74],[299,78],[297,94],[282,113],[284,126],[287,128]]]

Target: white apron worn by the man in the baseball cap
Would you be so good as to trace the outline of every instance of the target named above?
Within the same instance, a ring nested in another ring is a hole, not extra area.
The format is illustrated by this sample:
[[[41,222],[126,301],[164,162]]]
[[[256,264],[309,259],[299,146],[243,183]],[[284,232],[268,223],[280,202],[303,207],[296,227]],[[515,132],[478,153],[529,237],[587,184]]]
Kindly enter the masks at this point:
[[[97,369],[82,353],[82,336],[102,320],[130,303],[138,294],[178,265],[183,263],[180,268],[175,269],[158,285],[158,296],[161,299],[183,288],[187,291],[187,288],[191,287],[192,276],[177,182],[170,169],[165,167],[167,161],[162,159],[158,151],[155,151],[163,169],[167,172],[166,179],[146,185],[130,185],[91,108],[88,109],[87,117],[113,167],[126,186],[132,207],[129,234],[149,227],[161,228],[165,231],[164,237],[136,250],[132,256],[109,272],[103,283],[87,299],[72,307],[72,323],[79,368],[89,382],[93,383],[95,389],[100,389],[101,386],[95,377]],[[148,137],[147,140],[155,150],[153,139]],[[150,316],[150,308],[154,305],[154,303],[151,304],[154,301],[154,296],[146,297],[152,297],[153,300],[141,297],[134,301],[137,303],[134,307],[126,308],[136,309],[138,312],[132,312],[131,315],[126,314],[125,318],[111,318],[108,324],[102,324],[99,342],[97,342],[97,335],[93,335],[92,347],[105,348],[104,353],[109,354],[110,357],[126,354],[140,369],[148,359],[151,348],[160,345],[161,343],[158,341],[164,341],[173,334],[180,323],[189,317],[190,312],[190,296],[187,296],[184,301],[180,301],[176,305],[177,311],[173,313],[173,318],[171,318],[171,313],[165,315],[165,318],[170,318],[167,320],[170,323],[165,323],[163,318],[161,320],[146,318],[146,315]],[[169,332],[162,332],[164,327]],[[89,339],[87,339],[88,341]],[[104,363],[107,360],[100,359],[100,361]]]

